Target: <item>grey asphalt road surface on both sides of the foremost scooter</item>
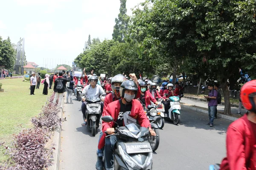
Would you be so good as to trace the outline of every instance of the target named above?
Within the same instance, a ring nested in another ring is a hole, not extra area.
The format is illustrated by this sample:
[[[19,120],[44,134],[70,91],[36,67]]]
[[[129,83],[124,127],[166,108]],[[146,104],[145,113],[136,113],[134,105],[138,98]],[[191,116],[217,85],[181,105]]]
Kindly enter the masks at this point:
[[[66,98],[66,97],[65,97]],[[66,100],[64,100],[66,102]],[[64,104],[60,170],[95,170],[99,133],[91,136],[82,127],[81,102]],[[206,125],[208,116],[181,108],[180,125],[166,121],[160,130],[160,145],[153,155],[154,170],[207,170],[225,156],[226,130],[230,122],[215,119]],[[99,131],[99,130],[98,130]]]

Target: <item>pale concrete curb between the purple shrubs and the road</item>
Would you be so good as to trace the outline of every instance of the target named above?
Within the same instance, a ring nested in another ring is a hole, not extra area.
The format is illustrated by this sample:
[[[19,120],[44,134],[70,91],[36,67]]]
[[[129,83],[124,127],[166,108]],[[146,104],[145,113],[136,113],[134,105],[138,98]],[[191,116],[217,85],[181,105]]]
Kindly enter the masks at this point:
[[[64,98],[62,100],[64,102]],[[63,109],[61,109],[58,113],[58,116],[62,119],[63,117]],[[52,163],[51,166],[48,167],[48,170],[59,170],[60,166],[60,152],[61,152],[61,126],[58,125],[54,130],[52,143],[55,144],[55,150],[52,152]]]

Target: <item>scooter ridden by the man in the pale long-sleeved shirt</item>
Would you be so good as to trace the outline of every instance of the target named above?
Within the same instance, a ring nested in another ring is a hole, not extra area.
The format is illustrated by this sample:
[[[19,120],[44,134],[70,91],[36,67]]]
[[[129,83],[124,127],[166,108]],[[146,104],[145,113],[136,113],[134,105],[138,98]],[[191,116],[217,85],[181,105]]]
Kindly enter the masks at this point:
[[[84,96],[84,94],[80,94]],[[99,121],[101,116],[101,99],[96,97],[95,99],[86,98],[86,119],[87,119],[87,128],[92,131],[92,135],[95,136],[96,130],[99,128]]]

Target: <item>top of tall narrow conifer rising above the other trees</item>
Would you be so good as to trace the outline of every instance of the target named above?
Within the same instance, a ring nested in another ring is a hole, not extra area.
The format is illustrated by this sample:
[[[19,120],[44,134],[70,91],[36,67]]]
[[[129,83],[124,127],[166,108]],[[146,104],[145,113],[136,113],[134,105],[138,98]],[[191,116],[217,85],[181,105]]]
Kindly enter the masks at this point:
[[[118,18],[115,20],[116,25],[114,26],[112,37],[115,41],[124,42],[129,22],[129,16],[126,14],[126,0],[120,0],[119,11]]]

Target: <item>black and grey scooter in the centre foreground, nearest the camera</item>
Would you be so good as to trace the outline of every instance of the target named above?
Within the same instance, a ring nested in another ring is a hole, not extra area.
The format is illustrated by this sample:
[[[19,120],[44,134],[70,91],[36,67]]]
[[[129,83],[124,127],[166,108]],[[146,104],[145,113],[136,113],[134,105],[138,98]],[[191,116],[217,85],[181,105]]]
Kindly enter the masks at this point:
[[[160,116],[156,116],[153,122],[158,122]],[[103,116],[104,122],[112,122],[111,116]],[[151,122],[151,127],[157,127]],[[116,122],[114,122],[116,123]],[[117,124],[117,123],[116,123]],[[105,131],[107,134],[107,132]],[[148,138],[150,135],[148,128],[140,127],[134,123],[115,129],[115,133],[106,136],[116,136],[116,146],[114,150],[114,169],[115,170],[152,170],[152,148]],[[103,157],[104,166],[105,158]]]

